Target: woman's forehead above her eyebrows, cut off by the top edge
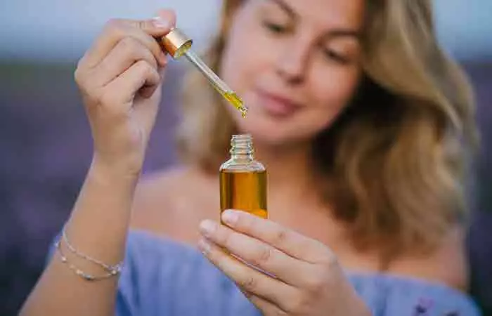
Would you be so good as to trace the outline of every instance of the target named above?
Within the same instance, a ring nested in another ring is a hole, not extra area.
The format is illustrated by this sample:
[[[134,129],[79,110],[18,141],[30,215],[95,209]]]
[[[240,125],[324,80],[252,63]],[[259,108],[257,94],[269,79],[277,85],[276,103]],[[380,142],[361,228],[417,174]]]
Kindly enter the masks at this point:
[[[288,7],[298,15],[299,22],[318,27],[349,27],[358,29],[363,22],[365,0],[259,0],[279,8]]]

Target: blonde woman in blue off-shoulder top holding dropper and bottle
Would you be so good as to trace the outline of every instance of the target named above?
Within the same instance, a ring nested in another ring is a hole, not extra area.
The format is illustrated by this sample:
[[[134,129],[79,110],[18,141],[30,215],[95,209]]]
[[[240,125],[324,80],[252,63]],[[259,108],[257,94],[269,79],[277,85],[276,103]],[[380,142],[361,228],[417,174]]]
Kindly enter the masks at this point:
[[[166,65],[155,39],[175,18],[108,23],[75,73],[93,162],[22,315],[478,315],[460,197],[470,88],[431,16],[424,0],[226,1],[208,60],[247,118],[191,74],[186,164],[138,190]],[[269,220],[219,224],[232,133],[267,166]],[[186,245],[199,235],[219,270]]]

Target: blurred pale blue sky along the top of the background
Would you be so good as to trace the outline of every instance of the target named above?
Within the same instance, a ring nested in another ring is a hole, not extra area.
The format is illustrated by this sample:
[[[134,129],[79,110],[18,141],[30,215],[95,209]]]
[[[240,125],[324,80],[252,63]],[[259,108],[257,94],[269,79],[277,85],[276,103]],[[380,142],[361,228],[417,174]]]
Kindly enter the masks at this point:
[[[302,0],[299,0],[302,1]],[[394,0],[399,1],[399,0]],[[106,20],[175,8],[179,26],[204,46],[221,0],[1,0],[0,58],[74,60]],[[492,58],[492,0],[434,0],[437,30],[460,59]]]

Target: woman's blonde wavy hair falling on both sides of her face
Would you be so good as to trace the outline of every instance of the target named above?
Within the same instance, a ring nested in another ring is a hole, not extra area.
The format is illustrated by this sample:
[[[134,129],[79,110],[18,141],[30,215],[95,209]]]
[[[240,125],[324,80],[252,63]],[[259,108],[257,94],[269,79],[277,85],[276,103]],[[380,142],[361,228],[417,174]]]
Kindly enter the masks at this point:
[[[205,54],[219,72],[233,12]],[[316,140],[327,204],[357,249],[383,258],[429,251],[466,213],[467,145],[477,144],[472,89],[439,48],[428,0],[367,0],[363,79],[347,110]],[[177,131],[185,162],[216,172],[228,154],[233,120],[218,93],[189,72]],[[219,106],[218,106],[219,104]]]

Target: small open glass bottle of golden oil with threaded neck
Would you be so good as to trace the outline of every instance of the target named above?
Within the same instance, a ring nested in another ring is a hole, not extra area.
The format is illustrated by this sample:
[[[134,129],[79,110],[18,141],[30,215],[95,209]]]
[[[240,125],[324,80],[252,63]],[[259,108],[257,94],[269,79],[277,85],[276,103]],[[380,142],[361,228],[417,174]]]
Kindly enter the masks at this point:
[[[254,159],[252,137],[233,135],[231,159],[219,170],[221,213],[226,209],[247,211],[268,218],[266,169]]]

